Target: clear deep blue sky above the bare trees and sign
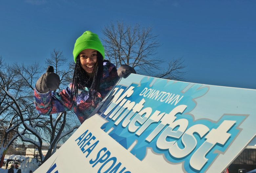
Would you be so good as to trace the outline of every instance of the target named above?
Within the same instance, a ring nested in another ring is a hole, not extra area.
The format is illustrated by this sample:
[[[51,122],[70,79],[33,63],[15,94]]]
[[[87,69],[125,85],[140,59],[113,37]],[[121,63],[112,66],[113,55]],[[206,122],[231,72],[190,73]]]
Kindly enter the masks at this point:
[[[256,1],[96,2],[1,1],[0,55],[9,63],[44,65],[56,48],[72,60],[85,30],[102,37],[105,25],[120,20],[153,27],[161,43],[158,57],[182,57],[187,81],[256,89]]]

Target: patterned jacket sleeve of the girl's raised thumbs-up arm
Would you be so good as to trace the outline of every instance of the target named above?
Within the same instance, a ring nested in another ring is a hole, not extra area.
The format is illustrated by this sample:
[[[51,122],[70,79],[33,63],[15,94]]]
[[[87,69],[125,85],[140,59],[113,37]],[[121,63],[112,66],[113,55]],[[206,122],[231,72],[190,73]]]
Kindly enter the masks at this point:
[[[69,111],[76,106],[72,105],[70,101],[71,90],[67,87],[65,90],[62,90],[60,93],[56,92],[47,92],[47,93],[39,93],[36,89],[34,89],[34,104],[36,110],[40,114],[53,114],[64,111]],[[73,106],[73,107],[72,107]]]

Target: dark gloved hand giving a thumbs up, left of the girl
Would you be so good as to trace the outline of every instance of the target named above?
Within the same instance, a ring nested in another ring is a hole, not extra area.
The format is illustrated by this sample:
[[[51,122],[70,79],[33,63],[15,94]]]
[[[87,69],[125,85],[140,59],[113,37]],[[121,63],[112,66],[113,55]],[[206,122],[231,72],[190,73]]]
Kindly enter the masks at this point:
[[[53,66],[48,66],[47,71],[36,82],[35,87],[40,93],[47,93],[59,88],[60,78],[54,73]]]

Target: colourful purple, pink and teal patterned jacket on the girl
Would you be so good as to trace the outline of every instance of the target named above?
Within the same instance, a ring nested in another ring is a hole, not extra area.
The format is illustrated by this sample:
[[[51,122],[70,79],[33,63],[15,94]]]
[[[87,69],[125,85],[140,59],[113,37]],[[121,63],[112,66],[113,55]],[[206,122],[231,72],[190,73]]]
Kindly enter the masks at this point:
[[[75,98],[76,102],[72,106],[72,102],[69,99],[71,95],[70,84],[69,87],[60,93],[52,91],[39,93],[34,89],[35,107],[40,114],[44,115],[73,110],[82,124],[94,111],[98,103],[108,94],[118,79],[115,65],[110,62],[103,62],[103,77],[101,79],[100,91],[96,98],[96,105],[91,96],[86,94],[85,90],[79,90]]]

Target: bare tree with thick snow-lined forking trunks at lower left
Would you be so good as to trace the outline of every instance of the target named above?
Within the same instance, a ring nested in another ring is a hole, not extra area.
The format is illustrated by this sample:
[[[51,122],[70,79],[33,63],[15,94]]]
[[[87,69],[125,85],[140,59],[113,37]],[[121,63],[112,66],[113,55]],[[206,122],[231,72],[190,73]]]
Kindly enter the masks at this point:
[[[59,113],[56,119],[52,116],[31,114],[29,108],[20,106],[18,101],[5,88],[2,88],[7,97],[13,102],[11,108],[14,110],[17,119],[13,118],[8,129],[14,130],[13,138],[20,137],[22,141],[31,143],[38,149],[41,163],[44,163],[56,151],[57,143],[70,133],[72,133],[79,126],[74,126],[72,129],[64,131],[66,125],[66,112]],[[23,110],[28,111],[23,111]],[[63,115],[63,116],[62,116]],[[19,128],[19,129],[18,129]],[[47,134],[50,133],[50,139]],[[42,146],[44,142],[48,142],[49,148],[46,155],[43,155]],[[0,155],[2,155],[0,153]]]

